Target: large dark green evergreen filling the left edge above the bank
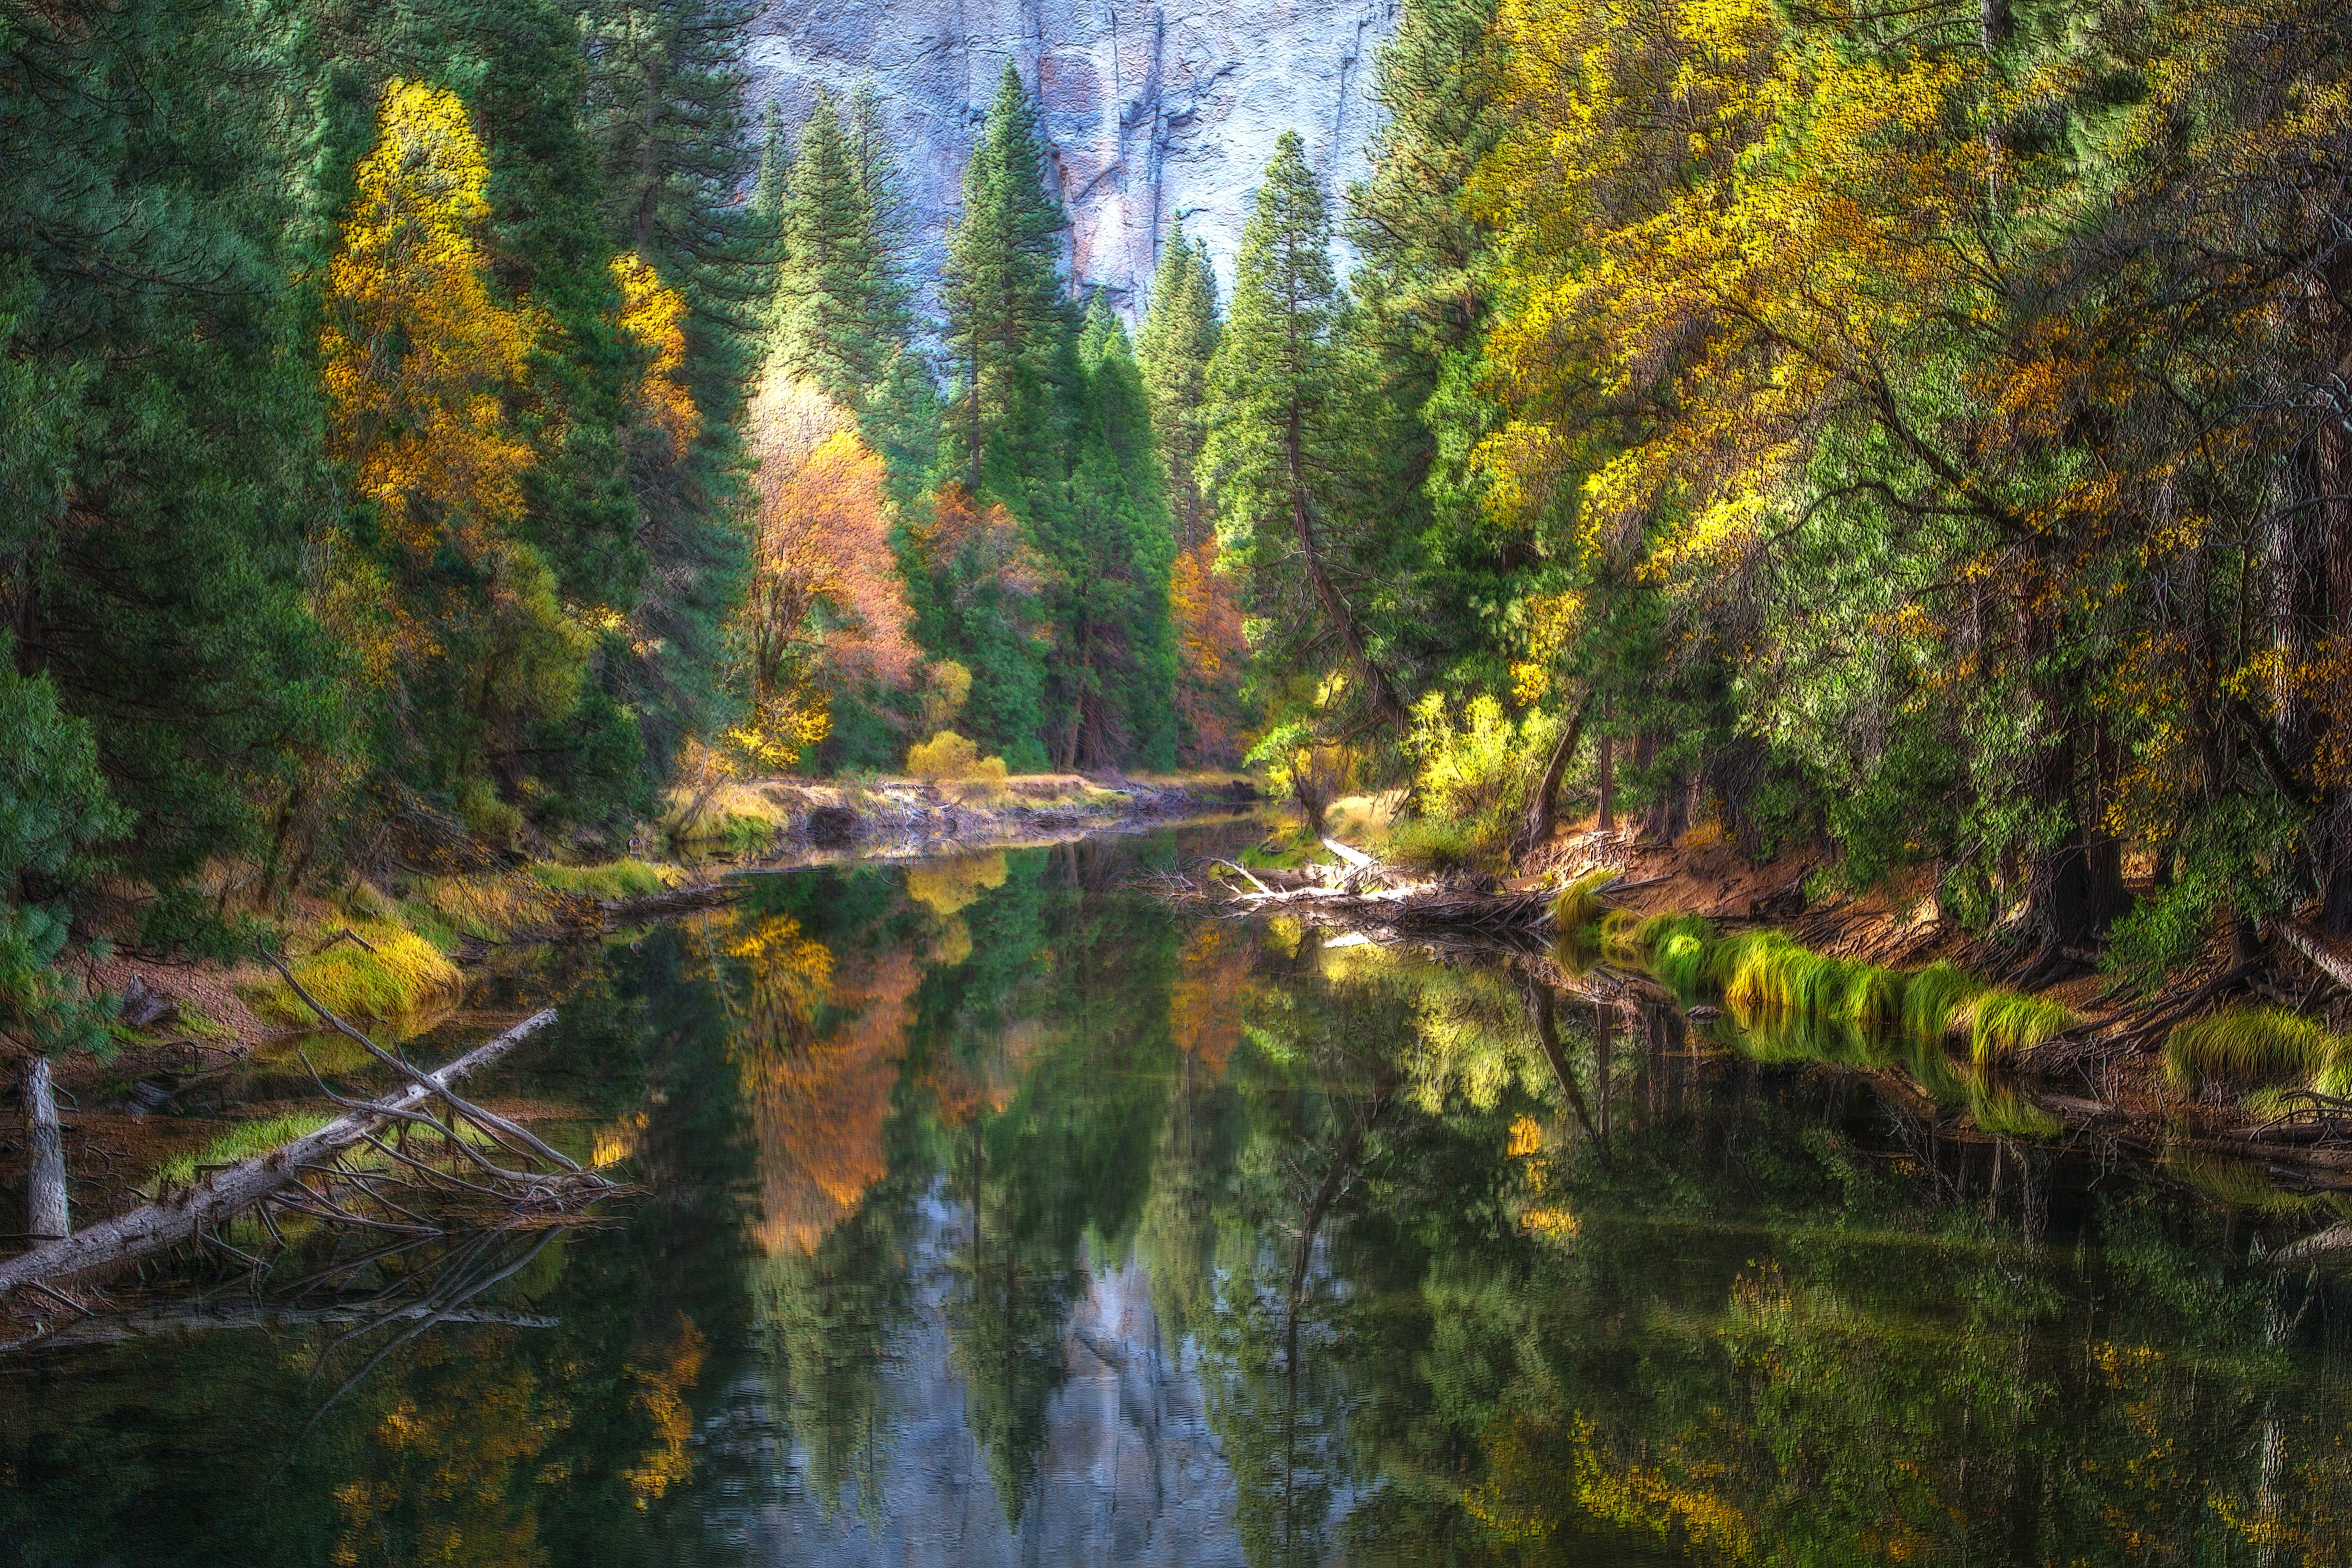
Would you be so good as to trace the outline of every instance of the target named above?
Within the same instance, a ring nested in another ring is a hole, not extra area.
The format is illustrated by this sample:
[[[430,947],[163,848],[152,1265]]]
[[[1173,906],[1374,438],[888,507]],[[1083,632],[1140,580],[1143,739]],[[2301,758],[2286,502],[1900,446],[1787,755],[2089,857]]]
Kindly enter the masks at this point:
[[[329,484],[280,110],[308,63],[200,0],[14,7],[0,40],[0,623],[87,724],[148,938],[198,936],[195,872],[287,875],[353,752],[303,581]]]

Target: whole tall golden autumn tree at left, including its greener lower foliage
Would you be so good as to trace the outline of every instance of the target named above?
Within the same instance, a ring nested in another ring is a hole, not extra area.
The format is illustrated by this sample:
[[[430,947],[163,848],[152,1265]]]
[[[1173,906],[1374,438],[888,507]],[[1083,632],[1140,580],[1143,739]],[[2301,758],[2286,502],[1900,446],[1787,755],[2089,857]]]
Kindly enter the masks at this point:
[[[506,397],[527,374],[532,315],[485,277],[473,230],[487,165],[454,92],[390,82],[355,186],[320,360],[329,451],[376,536],[329,552],[318,604],[402,693],[405,745],[482,799],[482,769],[513,785],[524,726],[579,701],[588,654],[546,559],[513,536],[529,449]]]

